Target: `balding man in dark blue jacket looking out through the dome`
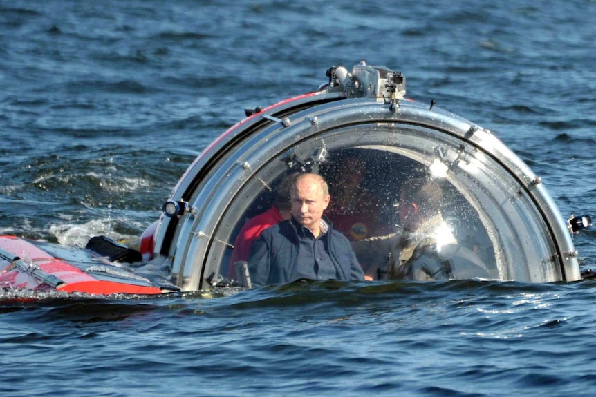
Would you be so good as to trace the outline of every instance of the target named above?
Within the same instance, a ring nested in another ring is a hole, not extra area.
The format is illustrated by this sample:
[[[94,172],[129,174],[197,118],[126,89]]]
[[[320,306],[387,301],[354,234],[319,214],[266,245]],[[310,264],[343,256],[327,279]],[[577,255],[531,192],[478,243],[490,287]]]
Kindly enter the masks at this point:
[[[299,175],[290,191],[292,217],[264,230],[248,259],[252,286],[311,280],[364,280],[348,239],[323,211],[328,186],[315,173]]]

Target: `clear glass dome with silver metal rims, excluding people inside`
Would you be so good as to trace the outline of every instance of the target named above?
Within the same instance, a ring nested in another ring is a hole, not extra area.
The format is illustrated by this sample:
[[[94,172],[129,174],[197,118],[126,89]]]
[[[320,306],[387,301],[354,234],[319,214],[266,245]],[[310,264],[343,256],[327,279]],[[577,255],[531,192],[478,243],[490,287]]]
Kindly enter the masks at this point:
[[[346,193],[335,182],[357,173],[375,222],[364,234],[362,228],[350,234],[354,225],[346,230],[355,246],[398,231],[401,187],[425,177],[442,188],[443,219],[475,258],[471,267],[456,264],[454,278],[579,280],[570,234],[530,168],[488,130],[403,99],[403,88],[401,75],[385,68],[361,64],[351,74],[337,68],[326,88],[230,128],[178,182],[171,200],[185,211],[160,218],[154,255],[172,259],[182,289],[208,287],[230,275],[236,235],[271,206],[288,173],[321,173],[332,204]],[[361,264],[383,278],[383,260]]]

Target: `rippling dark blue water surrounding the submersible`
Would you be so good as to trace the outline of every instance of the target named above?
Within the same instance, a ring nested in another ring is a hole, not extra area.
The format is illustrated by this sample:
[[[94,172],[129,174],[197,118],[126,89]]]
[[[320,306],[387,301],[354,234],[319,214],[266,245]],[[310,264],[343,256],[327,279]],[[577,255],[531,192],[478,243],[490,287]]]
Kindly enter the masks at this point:
[[[0,233],[134,241],[243,108],[360,59],[494,130],[565,216],[595,213],[595,19],[589,0],[0,0]],[[595,282],[238,292],[3,306],[0,394],[594,394]]]

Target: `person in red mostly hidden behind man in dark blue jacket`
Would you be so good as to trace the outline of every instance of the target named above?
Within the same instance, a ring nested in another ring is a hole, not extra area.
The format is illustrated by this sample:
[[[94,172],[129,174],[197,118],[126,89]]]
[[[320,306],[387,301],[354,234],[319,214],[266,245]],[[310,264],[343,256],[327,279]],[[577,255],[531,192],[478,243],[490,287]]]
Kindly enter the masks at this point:
[[[282,220],[288,220],[292,216],[290,204],[290,188],[292,187],[297,174],[286,177],[277,188],[273,205],[267,211],[256,215],[242,226],[234,241],[234,251],[227,267],[226,276],[229,279],[236,278],[236,262],[248,261],[250,247],[261,232],[270,228]]]

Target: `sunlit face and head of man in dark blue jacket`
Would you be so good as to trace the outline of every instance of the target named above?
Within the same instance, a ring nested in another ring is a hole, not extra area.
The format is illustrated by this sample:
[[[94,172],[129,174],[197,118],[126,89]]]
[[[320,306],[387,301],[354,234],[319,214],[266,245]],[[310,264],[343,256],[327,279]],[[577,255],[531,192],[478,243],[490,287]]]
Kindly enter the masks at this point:
[[[302,226],[316,229],[329,200],[329,195],[324,195],[318,180],[310,176],[302,177],[296,181],[292,193],[292,215]]]

